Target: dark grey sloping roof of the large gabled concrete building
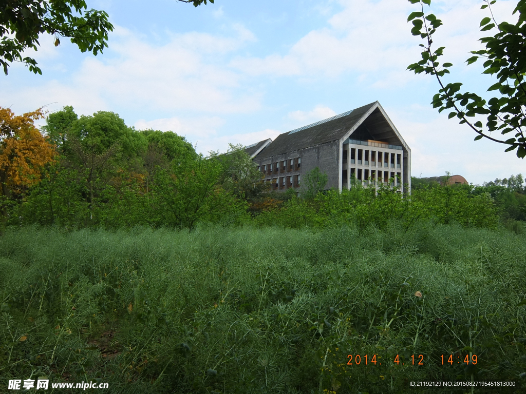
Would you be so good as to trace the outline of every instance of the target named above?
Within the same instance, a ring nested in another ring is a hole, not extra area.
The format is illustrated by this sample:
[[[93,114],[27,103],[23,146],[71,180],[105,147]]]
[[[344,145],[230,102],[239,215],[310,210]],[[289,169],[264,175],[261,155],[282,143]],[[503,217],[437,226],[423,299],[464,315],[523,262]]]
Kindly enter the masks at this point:
[[[260,153],[258,158],[296,151],[342,138],[378,101],[366,106],[321,120],[312,125],[288,131],[279,136]],[[261,142],[258,142],[258,144]],[[247,148],[246,148],[247,149]]]

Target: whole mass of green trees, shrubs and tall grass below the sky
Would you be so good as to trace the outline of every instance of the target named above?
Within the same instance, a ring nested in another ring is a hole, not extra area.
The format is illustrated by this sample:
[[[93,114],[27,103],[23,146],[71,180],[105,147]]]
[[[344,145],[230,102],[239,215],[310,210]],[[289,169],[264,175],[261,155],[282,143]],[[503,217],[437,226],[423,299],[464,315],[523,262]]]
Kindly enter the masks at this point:
[[[25,143],[6,130],[0,150]],[[402,196],[394,180],[325,191],[314,169],[298,197],[270,192],[242,147],[204,157],[112,112],[66,107],[45,134],[54,159],[2,184],[0,385],[334,394],[488,379],[524,390],[521,175],[414,182]]]

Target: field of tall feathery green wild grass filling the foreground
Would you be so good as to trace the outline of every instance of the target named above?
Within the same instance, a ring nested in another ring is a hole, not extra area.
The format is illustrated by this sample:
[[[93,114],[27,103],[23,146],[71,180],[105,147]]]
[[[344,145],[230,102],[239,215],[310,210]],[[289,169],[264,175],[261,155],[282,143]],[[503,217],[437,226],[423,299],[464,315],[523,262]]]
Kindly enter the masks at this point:
[[[12,227],[0,237],[0,387],[47,376],[131,394],[398,393],[497,380],[523,392],[524,240],[425,222]]]

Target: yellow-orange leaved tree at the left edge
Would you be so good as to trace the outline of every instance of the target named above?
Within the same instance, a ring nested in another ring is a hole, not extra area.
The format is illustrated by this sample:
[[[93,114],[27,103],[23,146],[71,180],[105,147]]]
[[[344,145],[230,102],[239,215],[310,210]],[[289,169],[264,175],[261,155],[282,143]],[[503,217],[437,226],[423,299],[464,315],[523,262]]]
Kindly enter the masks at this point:
[[[52,145],[34,124],[43,117],[42,109],[15,116],[10,109],[0,107],[0,204],[4,220],[5,202],[11,192],[39,182],[43,166],[53,160]]]

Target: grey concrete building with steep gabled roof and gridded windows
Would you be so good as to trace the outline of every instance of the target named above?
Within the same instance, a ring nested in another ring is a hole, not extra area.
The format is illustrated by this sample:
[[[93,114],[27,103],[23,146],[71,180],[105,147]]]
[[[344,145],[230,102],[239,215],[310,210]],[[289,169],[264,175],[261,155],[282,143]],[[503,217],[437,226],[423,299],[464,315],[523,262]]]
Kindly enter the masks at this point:
[[[299,188],[301,177],[318,167],[326,189],[362,184],[402,183],[411,190],[411,149],[378,101],[245,148],[272,189]]]

